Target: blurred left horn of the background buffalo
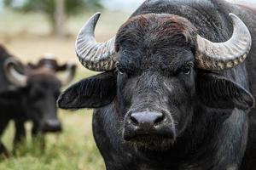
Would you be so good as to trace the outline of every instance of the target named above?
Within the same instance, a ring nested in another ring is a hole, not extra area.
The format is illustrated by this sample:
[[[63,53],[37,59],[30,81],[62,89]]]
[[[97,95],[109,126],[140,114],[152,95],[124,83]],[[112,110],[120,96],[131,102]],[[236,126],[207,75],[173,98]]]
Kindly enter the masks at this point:
[[[24,70],[24,66],[13,57],[6,59],[3,64],[3,70],[9,82],[17,86],[26,86],[27,76],[20,73],[19,70]],[[18,70],[18,71],[17,71]]]

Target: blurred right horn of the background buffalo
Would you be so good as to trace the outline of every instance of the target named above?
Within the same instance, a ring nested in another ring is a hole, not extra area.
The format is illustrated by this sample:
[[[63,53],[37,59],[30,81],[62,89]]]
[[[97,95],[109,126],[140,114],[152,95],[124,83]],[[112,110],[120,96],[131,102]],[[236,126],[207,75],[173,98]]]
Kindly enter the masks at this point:
[[[69,82],[71,82],[73,80],[75,72],[76,72],[76,65],[71,62],[67,63],[64,76],[60,78],[61,85],[66,86]]]

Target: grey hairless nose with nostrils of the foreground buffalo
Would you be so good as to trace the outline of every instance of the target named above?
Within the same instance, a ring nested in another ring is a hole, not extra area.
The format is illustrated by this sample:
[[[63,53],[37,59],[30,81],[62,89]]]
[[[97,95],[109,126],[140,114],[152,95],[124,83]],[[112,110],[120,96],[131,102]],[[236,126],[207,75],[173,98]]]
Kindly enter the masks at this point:
[[[131,122],[140,127],[140,126],[155,126],[156,124],[164,120],[164,115],[159,112],[136,112],[131,114]]]

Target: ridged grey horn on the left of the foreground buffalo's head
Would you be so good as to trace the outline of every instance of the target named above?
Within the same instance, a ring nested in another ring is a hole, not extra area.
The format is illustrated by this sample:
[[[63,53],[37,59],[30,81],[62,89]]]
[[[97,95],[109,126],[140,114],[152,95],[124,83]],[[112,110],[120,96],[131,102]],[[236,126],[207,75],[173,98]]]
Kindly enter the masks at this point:
[[[116,63],[115,37],[108,42],[96,42],[94,31],[100,15],[100,13],[94,14],[79,31],[75,48],[79,60],[85,68],[91,71],[111,71]]]

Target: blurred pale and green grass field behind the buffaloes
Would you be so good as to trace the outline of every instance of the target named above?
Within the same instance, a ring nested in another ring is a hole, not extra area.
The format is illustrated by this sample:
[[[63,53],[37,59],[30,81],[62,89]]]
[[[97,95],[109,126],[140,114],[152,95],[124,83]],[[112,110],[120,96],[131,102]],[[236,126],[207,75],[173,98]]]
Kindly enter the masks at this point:
[[[59,62],[73,60],[79,65],[74,53],[75,34],[90,14],[80,15],[67,22],[70,37],[58,39],[49,35],[49,25],[42,14],[0,14],[0,43],[11,54],[24,63],[36,62],[44,53],[54,53]],[[128,14],[102,14],[96,29],[97,38],[104,41],[112,37]],[[78,74],[73,82],[95,74],[79,65]],[[91,131],[92,111],[59,111],[63,133],[48,134],[46,149],[40,150],[38,142],[28,135],[15,150],[12,148],[14,136],[13,123],[9,124],[2,137],[3,143],[11,151],[9,159],[0,161],[0,170],[102,170],[104,163],[100,156]],[[31,124],[26,124],[27,130]]]

